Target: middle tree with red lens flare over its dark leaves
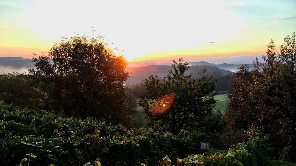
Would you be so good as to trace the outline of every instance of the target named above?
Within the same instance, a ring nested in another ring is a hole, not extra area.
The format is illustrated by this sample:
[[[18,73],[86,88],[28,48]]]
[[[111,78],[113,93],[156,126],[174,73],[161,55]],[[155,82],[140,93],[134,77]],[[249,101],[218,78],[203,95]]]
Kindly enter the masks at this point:
[[[185,75],[188,63],[173,61],[172,69],[162,80],[157,75],[145,81],[147,93],[140,100],[145,110],[148,124],[157,123],[164,129],[177,134],[181,129],[196,129],[203,118],[212,113],[216,103],[216,79],[202,76],[196,81],[193,76]]]

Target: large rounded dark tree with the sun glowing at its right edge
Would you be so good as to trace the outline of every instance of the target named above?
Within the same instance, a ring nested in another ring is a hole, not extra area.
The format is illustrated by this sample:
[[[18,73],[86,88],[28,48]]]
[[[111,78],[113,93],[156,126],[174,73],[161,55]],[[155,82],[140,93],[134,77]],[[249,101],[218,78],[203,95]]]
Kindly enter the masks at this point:
[[[36,70],[30,73],[40,79],[48,94],[49,109],[107,123],[126,119],[127,63],[107,46],[100,37],[76,35],[54,44],[48,56],[33,59]]]

